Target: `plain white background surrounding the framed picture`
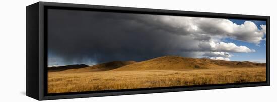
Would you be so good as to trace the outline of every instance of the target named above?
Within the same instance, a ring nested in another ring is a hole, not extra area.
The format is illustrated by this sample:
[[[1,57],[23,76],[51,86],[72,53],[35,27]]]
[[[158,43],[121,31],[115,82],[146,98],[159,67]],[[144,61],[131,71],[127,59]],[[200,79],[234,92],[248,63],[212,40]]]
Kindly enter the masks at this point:
[[[35,101],[26,94],[26,6],[35,0],[1,1],[0,5],[0,101]],[[272,0],[71,0],[47,1],[108,6],[171,9],[185,11],[265,15],[271,17],[271,86],[185,91],[94,98],[61,99],[51,101],[276,101],[277,7]]]

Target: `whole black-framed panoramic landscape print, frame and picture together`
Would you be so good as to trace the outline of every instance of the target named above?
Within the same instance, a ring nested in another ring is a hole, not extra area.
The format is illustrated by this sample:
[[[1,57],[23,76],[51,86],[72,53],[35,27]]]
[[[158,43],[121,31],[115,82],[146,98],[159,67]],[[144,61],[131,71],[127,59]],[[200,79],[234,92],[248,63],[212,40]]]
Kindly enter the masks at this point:
[[[269,24],[269,16],[38,2],[27,6],[27,96],[268,86]]]

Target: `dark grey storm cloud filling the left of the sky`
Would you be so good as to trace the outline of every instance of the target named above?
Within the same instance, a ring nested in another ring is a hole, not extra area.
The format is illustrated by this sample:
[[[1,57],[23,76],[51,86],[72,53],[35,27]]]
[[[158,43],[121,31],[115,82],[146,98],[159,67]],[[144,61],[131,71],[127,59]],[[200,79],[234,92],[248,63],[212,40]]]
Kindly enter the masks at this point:
[[[180,36],[183,29],[161,24],[157,16],[51,9],[48,15],[49,54],[67,63],[143,61],[196,49]]]

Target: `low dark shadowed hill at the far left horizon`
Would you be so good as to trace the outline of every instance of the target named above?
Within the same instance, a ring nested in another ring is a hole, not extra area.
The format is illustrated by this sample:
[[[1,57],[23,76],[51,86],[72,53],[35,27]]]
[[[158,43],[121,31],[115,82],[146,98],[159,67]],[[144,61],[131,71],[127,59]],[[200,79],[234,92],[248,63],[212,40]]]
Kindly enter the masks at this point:
[[[88,65],[80,64],[80,65],[66,65],[66,66],[58,66],[58,67],[48,67],[48,72],[55,72],[55,71],[63,71],[67,69],[79,69],[88,67]]]

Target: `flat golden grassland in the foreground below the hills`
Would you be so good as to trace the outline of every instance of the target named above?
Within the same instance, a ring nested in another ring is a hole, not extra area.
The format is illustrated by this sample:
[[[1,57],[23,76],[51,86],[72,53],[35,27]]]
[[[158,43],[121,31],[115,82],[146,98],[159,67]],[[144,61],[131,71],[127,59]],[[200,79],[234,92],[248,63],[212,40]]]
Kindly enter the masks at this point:
[[[265,67],[145,71],[110,70],[79,73],[61,71],[48,72],[48,93],[260,82],[265,80]]]

